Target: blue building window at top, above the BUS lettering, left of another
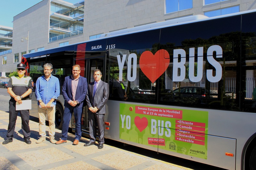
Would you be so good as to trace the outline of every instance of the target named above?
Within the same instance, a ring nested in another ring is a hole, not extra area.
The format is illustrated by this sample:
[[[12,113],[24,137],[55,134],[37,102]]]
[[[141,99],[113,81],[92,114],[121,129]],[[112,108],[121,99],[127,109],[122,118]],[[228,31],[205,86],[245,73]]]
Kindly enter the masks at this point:
[[[190,8],[193,8],[192,0],[166,0],[165,1],[166,13],[186,10]]]

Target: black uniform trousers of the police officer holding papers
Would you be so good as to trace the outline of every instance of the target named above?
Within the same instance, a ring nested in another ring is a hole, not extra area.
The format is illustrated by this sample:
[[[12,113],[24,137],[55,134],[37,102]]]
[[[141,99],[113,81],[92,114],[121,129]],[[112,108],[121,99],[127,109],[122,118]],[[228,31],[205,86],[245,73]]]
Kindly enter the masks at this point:
[[[21,129],[24,139],[30,139],[30,128],[29,128],[29,110],[16,110],[16,101],[14,99],[9,100],[9,125],[7,130],[7,139],[12,139],[18,113],[20,111],[21,117]]]

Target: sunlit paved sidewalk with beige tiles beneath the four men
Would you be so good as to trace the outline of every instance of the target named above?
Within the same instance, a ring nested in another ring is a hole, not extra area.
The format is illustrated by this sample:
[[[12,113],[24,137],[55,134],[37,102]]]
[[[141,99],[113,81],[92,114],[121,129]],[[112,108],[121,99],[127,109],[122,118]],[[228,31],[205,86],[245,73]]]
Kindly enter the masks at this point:
[[[89,140],[82,137],[78,145],[72,145],[73,134],[68,134],[68,142],[51,144],[46,138],[36,144],[39,137],[38,123],[30,121],[32,144],[26,144],[18,116],[13,142],[2,144],[6,138],[9,114],[0,111],[0,170],[16,169],[88,169],[88,170],[184,170],[181,166],[159,161],[133,152],[121,150],[104,144],[103,149],[96,145],[84,147]],[[46,127],[48,130],[48,127]],[[48,131],[47,131],[48,136]],[[61,137],[61,130],[56,129],[55,139]]]

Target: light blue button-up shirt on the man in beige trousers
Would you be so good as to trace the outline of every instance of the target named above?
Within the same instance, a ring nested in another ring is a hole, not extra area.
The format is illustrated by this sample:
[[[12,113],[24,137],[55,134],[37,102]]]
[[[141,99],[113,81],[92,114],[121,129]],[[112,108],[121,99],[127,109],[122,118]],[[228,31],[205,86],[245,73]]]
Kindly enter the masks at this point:
[[[57,99],[60,96],[60,82],[59,79],[52,76],[47,81],[44,76],[39,77],[36,80],[36,100],[42,100],[44,104],[47,104],[51,99]],[[39,102],[37,102],[39,105]],[[56,105],[56,100],[52,102]]]

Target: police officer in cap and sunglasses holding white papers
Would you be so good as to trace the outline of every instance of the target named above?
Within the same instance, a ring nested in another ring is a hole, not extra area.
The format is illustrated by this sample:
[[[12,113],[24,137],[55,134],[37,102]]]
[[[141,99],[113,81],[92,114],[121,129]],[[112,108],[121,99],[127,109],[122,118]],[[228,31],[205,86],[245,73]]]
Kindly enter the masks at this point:
[[[16,102],[22,104],[22,100],[29,99],[29,94],[32,92],[32,78],[25,76],[26,67],[25,64],[20,63],[17,65],[18,76],[12,76],[7,85],[7,92],[11,95],[9,100],[9,125],[6,135],[6,140],[3,144],[12,142],[15,124],[19,110],[16,110]],[[21,129],[23,132],[24,140],[26,144],[31,144],[30,141],[30,128],[29,122],[29,110],[20,110],[21,117]]]

